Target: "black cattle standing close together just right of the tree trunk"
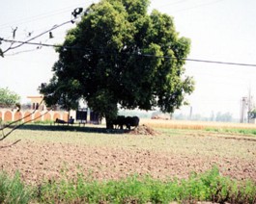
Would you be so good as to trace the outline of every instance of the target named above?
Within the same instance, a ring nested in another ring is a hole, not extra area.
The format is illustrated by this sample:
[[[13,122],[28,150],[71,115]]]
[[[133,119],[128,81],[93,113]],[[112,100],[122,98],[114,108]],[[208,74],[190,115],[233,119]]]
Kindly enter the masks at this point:
[[[137,127],[139,125],[139,117],[138,116],[124,116],[118,115],[116,119],[113,120],[113,125],[115,129],[120,128],[124,129],[124,125],[126,128],[130,130],[130,127]]]

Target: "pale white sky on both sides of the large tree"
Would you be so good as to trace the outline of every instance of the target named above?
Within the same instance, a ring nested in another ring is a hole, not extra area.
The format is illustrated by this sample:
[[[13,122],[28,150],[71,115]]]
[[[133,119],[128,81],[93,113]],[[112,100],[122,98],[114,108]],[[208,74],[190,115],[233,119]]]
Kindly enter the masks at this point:
[[[96,0],[1,0],[0,38],[26,40],[71,20],[71,12],[87,8]],[[255,0],[152,0],[149,13],[156,9],[174,18],[180,37],[191,39],[188,59],[256,64]],[[62,43],[69,23],[33,40]],[[16,44],[14,44],[16,45]],[[13,45],[13,46],[14,46]],[[10,43],[0,45],[3,50]],[[58,55],[52,47],[22,45],[0,57],[0,88],[14,90],[27,101],[39,95],[38,87],[52,76]],[[195,81],[194,92],[186,97],[189,106],[180,111],[189,115],[231,113],[239,118],[242,97],[249,92],[256,99],[256,66],[186,62],[185,75]]]

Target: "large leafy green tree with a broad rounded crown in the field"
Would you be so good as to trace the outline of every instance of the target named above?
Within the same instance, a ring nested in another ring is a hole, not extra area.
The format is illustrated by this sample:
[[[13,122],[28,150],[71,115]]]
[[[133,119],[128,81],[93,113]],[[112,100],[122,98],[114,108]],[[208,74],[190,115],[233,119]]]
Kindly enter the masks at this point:
[[[122,108],[172,113],[193,90],[185,77],[190,41],[173,18],[148,0],[101,0],[91,5],[60,48],[54,75],[41,92],[47,105],[76,108],[83,98],[106,118]]]

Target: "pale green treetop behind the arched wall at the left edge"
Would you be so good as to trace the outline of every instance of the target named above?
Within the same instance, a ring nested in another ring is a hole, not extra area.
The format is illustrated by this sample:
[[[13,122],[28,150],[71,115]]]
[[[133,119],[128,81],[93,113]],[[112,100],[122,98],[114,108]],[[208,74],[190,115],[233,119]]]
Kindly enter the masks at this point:
[[[15,104],[18,104],[20,96],[17,95],[14,91],[6,88],[0,88],[0,107],[1,108],[10,108],[14,107]]]

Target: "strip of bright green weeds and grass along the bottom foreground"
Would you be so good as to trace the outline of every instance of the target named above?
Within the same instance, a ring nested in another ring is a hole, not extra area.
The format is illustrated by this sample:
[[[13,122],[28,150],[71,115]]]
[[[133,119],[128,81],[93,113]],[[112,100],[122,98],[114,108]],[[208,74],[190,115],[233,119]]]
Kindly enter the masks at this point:
[[[77,175],[76,179],[50,180],[42,185],[27,187],[15,174],[10,179],[0,173],[0,203],[255,203],[256,185],[238,182],[219,174],[217,167],[186,180],[161,181],[150,176],[131,176],[118,181],[96,181]]]

